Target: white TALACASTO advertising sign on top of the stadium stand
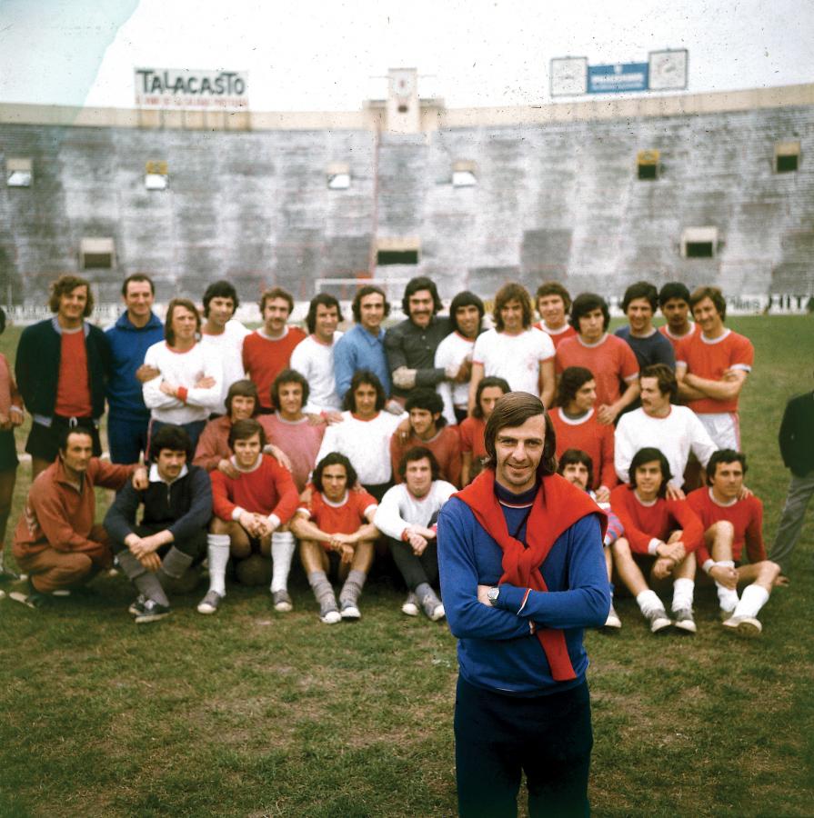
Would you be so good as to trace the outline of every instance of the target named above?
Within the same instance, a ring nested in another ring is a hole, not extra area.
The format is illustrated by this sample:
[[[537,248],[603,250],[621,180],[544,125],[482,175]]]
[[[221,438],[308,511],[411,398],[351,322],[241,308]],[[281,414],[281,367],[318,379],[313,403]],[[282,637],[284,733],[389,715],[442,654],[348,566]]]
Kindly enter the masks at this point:
[[[190,68],[136,68],[136,107],[248,107],[246,71],[196,71]]]

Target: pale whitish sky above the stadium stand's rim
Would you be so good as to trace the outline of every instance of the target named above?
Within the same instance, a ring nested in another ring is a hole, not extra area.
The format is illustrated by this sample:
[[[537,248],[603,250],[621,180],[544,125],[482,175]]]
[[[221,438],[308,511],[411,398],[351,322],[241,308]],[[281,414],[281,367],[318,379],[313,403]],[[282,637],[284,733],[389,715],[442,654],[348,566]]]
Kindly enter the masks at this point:
[[[133,105],[136,66],[247,71],[255,110],[357,110],[415,66],[450,107],[548,101],[552,57],[687,48],[689,92],[814,79],[810,0],[0,0],[0,102]]]

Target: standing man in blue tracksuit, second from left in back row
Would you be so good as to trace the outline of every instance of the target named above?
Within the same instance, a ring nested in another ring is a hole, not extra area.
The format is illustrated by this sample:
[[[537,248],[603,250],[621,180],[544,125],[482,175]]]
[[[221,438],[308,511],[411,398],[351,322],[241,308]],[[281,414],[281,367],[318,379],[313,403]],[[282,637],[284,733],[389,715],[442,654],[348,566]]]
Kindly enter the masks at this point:
[[[143,273],[127,276],[122,284],[126,312],[106,330],[113,357],[107,382],[107,441],[113,463],[137,463],[146,453],[150,410],[144,404],[136,373],[149,346],[164,340],[164,326],[153,313],[156,288]]]

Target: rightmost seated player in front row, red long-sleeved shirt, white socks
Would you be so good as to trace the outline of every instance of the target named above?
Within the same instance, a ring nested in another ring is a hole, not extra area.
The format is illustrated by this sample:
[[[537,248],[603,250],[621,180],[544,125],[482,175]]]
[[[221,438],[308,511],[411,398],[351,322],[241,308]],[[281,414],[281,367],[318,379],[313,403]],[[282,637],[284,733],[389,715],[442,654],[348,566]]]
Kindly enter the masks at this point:
[[[780,566],[766,558],[763,504],[743,497],[746,455],[722,449],[709,458],[708,486],[688,494],[689,507],[704,526],[698,564],[715,580],[724,627],[743,636],[759,636],[760,608],[779,584]],[[749,564],[740,564],[746,544]],[[711,555],[710,555],[711,554]],[[738,598],[738,585],[749,583]]]

